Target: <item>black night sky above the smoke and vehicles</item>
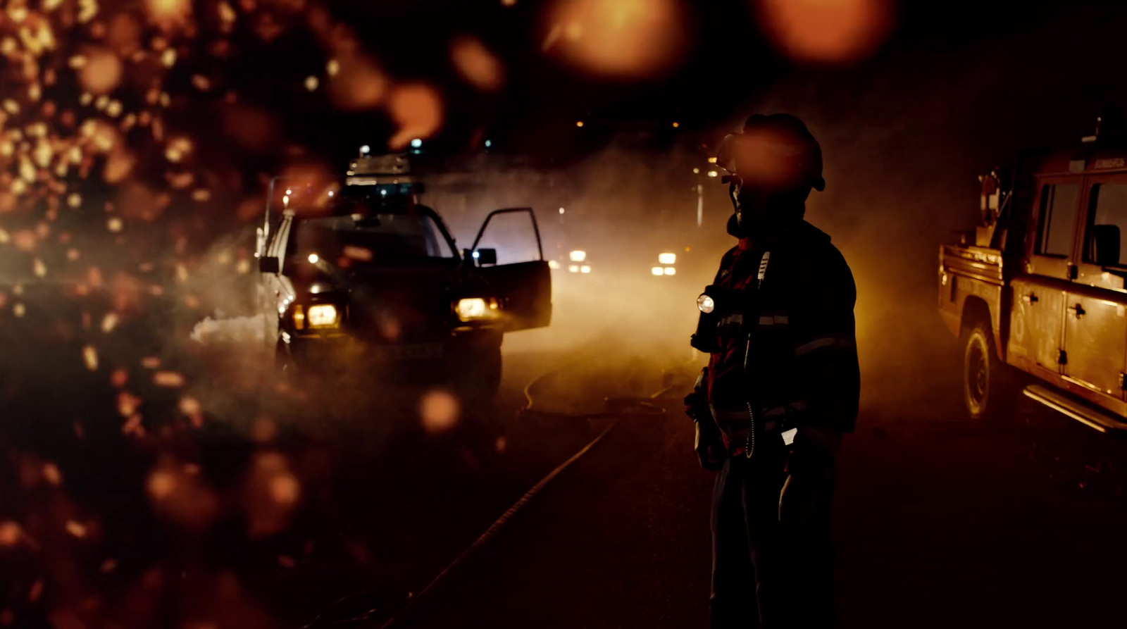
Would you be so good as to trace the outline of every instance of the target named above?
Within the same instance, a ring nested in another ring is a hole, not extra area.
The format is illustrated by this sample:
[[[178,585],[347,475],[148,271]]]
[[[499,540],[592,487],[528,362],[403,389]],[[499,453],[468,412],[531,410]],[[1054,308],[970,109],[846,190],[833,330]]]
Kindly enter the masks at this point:
[[[1042,0],[1027,2],[1018,10],[1008,2],[903,2],[897,27],[878,54],[848,68],[789,63],[763,39],[748,0],[694,0],[686,5],[691,5],[691,44],[683,62],[662,79],[640,82],[600,81],[542,55],[542,2],[524,0],[513,8],[502,7],[497,0],[330,6],[335,17],[356,30],[393,77],[420,78],[443,89],[450,107],[442,140],[455,145],[482,125],[490,134],[511,138],[511,143],[534,136],[535,148],[543,150],[541,144],[552,142],[545,129],[570,135],[577,118],[602,119],[610,127],[638,118],[677,119],[689,131],[711,130],[754,106],[758,96],[780,82],[817,83],[828,98],[838,90],[855,95],[873,83],[887,82],[925,91],[932,78],[958,83],[960,74],[973,73],[994,76],[971,92],[964,86],[964,91],[946,95],[952,107],[965,106],[959,101],[966,98],[975,100],[980,115],[971,125],[994,127],[1006,121],[1026,127],[1044,122],[1050,110],[1061,112],[1056,117],[1085,114],[1071,125],[1048,124],[1046,131],[1055,140],[1058,129],[1073,134],[1080,127],[1086,130],[1098,103],[1122,91],[1115,85],[1115,68],[1121,33],[1118,25],[1125,24],[1125,10],[1101,6],[1107,3]],[[465,33],[480,36],[505,62],[508,80],[500,94],[474,92],[452,69],[447,42]],[[304,48],[294,44],[278,45]],[[317,65],[317,55],[310,56],[312,61],[292,64],[295,77],[308,71],[302,63]],[[263,87],[264,97],[276,89]],[[1027,100],[1023,94],[1035,98]],[[302,107],[293,112],[295,116],[307,113]],[[388,129],[380,115],[336,117],[362,134],[376,135]],[[591,132],[597,129],[588,129]],[[1028,134],[1028,130],[1021,133]],[[314,135],[322,138],[329,143],[321,147],[326,150],[344,149],[332,145],[330,136],[338,134],[325,134],[323,130],[295,130],[295,134],[313,145],[318,145]],[[529,147],[524,143],[521,148]]]

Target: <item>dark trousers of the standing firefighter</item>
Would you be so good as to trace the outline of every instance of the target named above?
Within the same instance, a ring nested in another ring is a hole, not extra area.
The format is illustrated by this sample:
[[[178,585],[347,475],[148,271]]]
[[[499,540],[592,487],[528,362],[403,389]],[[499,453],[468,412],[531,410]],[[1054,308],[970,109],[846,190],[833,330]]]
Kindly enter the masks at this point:
[[[833,475],[819,482],[813,522],[779,522],[787,480],[782,437],[761,438],[753,460],[729,458],[712,495],[712,629],[836,626]]]

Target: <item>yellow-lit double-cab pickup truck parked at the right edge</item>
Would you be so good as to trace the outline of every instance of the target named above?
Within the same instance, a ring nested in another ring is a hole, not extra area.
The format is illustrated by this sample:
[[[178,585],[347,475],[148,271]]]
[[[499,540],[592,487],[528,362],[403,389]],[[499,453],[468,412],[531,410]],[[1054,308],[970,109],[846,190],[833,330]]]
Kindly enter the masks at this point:
[[[939,312],[964,344],[974,419],[1010,411],[1026,381],[1049,408],[1127,429],[1127,134],[1108,123],[983,176],[982,224],[940,248]]]

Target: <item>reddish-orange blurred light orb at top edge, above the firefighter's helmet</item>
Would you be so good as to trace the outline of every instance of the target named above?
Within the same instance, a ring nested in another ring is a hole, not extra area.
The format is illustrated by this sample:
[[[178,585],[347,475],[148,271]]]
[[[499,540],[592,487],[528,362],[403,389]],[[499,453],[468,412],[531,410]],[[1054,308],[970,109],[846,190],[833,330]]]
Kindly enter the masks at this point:
[[[852,63],[871,55],[893,26],[890,0],[756,0],[762,28],[795,61]]]

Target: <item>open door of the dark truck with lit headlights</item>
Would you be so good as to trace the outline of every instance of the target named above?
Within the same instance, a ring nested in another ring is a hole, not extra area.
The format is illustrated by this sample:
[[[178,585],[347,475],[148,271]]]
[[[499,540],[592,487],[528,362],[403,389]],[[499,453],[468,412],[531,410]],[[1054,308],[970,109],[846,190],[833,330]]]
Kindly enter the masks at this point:
[[[495,216],[513,215],[514,219],[517,219],[520,214],[527,215],[532,224],[532,232],[535,234],[535,249],[531,249],[531,247],[526,249],[534,259],[497,264],[496,248],[479,249],[478,246]],[[505,331],[543,328],[551,324],[551,269],[548,262],[544,260],[540,225],[536,224],[536,215],[531,207],[511,207],[490,212],[485,222],[481,223],[481,229],[478,230],[478,236],[473,239],[473,246],[469,249],[468,255],[479,267],[481,277],[488,282],[489,287],[502,302],[502,310],[505,313]]]

